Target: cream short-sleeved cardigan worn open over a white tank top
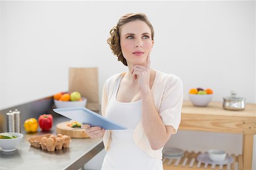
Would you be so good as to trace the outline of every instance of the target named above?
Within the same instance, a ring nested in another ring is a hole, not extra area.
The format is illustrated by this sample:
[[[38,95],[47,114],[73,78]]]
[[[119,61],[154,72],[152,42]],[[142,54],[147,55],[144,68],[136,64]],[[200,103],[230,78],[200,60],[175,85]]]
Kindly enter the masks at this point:
[[[102,91],[101,112],[106,116],[106,108],[114,90],[115,81],[125,73],[119,73],[106,80]],[[155,107],[162,118],[164,125],[174,127],[172,134],[177,132],[180,124],[181,107],[183,102],[183,84],[179,77],[174,74],[166,74],[156,71],[154,84],[151,89],[155,101]],[[152,125],[154,127],[154,125]],[[112,130],[105,130],[103,142],[105,150],[108,151]],[[159,150],[152,150],[147,135],[143,130],[142,121],[139,121],[134,129],[133,138],[135,144],[151,158],[162,159],[163,147]]]

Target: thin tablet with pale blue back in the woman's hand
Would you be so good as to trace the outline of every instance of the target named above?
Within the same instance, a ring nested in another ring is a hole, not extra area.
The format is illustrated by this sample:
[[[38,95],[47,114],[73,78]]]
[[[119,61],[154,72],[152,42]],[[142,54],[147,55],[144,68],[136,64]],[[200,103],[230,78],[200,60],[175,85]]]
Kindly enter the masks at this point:
[[[90,111],[84,107],[60,108],[53,109],[54,112],[61,114],[74,121],[90,126],[100,126],[106,130],[123,130],[125,126],[112,120],[102,117],[100,114]]]

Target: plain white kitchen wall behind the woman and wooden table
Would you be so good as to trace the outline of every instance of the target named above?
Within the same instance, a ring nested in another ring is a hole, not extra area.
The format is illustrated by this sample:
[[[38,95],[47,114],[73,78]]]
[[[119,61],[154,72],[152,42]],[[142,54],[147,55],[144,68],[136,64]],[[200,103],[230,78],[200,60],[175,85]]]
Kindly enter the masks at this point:
[[[105,80],[126,71],[106,39],[128,12],[147,14],[155,29],[152,68],[179,76],[184,99],[200,86],[214,90],[214,101],[235,90],[256,103],[254,1],[2,1],[0,9],[0,109],[68,90],[68,67],[97,66],[101,96]],[[241,138],[179,131],[167,145],[241,154]]]

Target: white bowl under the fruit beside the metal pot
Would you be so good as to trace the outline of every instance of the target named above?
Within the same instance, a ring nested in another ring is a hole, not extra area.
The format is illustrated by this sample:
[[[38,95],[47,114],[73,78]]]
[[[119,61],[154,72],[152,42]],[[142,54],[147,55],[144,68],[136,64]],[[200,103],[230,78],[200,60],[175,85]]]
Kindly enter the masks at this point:
[[[212,97],[213,95],[188,94],[188,98],[192,104],[198,107],[206,107],[212,100]]]

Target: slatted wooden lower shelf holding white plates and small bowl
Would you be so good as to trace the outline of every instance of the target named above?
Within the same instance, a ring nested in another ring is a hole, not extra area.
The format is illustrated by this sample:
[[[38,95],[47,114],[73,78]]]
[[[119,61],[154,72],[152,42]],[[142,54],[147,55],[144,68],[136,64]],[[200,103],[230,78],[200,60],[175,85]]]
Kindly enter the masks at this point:
[[[163,159],[163,169],[164,170],[191,170],[191,169],[232,169],[232,170],[242,170],[243,167],[243,157],[242,155],[234,155],[231,156],[234,159],[232,164],[228,165],[212,165],[212,164],[204,164],[197,162],[196,157],[201,152],[188,152],[185,151],[184,156],[180,159]]]

